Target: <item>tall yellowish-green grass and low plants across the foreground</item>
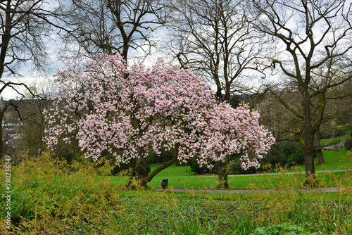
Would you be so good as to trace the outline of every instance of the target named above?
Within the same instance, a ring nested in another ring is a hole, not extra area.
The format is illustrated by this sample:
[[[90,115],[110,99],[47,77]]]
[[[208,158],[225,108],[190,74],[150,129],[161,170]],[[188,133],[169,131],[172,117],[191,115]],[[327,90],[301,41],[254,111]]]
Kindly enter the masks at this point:
[[[331,194],[289,190],[249,195],[126,191],[98,174],[89,162],[75,163],[73,171],[49,153],[39,158],[23,156],[13,167],[13,234],[352,232],[351,172],[344,181],[337,178],[340,188],[346,189],[335,199],[329,199]],[[286,178],[276,180],[285,184]],[[4,194],[2,187],[0,193]],[[0,217],[2,224],[4,210]],[[0,234],[8,234],[5,227],[0,227]]]

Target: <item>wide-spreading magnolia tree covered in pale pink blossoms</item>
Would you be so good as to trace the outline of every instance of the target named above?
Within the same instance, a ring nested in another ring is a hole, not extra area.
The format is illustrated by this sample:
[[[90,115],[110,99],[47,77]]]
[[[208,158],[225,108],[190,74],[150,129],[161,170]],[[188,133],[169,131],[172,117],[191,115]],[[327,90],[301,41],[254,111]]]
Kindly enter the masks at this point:
[[[176,160],[193,158],[212,167],[241,153],[244,169],[258,167],[274,142],[258,124],[258,113],[217,103],[201,77],[188,70],[161,60],[152,68],[127,65],[119,55],[69,61],[56,75],[56,105],[46,112],[45,141],[53,150],[60,140],[76,139],[86,158],[97,160],[107,151],[118,163],[136,159],[136,179],[145,185]],[[148,175],[150,149],[176,155]]]

